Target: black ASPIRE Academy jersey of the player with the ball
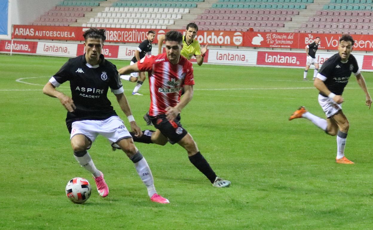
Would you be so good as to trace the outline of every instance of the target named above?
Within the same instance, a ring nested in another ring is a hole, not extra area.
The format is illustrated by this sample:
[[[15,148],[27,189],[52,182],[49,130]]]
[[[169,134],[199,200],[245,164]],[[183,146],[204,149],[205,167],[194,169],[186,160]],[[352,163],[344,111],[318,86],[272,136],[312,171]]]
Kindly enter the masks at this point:
[[[109,99],[107,91],[122,92],[122,82],[116,66],[100,55],[101,63],[91,66],[85,60],[85,55],[69,59],[50,80],[54,86],[70,82],[72,100],[76,109],[66,116],[66,125],[71,132],[71,124],[78,120],[104,120],[117,116]]]

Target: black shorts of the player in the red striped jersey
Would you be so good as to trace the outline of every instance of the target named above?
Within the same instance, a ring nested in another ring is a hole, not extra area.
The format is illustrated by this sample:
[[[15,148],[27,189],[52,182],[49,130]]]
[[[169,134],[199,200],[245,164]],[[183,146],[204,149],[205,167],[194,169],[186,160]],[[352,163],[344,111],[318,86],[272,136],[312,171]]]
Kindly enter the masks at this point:
[[[187,133],[180,123],[180,114],[173,121],[166,118],[166,114],[150,117],[154,127],[159,129],[163,136],[169,139],[171,144],[178,143]]]

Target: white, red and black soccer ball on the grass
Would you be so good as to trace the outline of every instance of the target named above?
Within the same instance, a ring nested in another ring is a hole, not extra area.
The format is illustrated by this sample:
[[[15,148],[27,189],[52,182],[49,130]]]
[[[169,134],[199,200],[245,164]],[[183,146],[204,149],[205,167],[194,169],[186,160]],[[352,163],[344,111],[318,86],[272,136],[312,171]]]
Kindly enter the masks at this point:
[[[88,180],[75,177],[66,185],[66,196],[74,203],[84,203],[91,196],[91,185]]]

